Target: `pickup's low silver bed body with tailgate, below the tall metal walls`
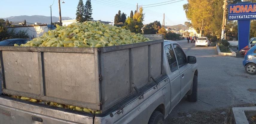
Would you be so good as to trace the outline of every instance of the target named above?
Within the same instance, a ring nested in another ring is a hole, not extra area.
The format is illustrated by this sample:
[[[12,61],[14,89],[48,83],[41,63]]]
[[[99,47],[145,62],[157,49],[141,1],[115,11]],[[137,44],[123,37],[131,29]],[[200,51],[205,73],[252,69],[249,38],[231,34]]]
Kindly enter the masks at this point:
[[[170,83],[167,76],[139,89],[103,114],[89,114],[0,95],[0,124],[112,124],[147,123],[159,106],[165,117],[170,108]],[[167,111],[165,111],[167,110]]]

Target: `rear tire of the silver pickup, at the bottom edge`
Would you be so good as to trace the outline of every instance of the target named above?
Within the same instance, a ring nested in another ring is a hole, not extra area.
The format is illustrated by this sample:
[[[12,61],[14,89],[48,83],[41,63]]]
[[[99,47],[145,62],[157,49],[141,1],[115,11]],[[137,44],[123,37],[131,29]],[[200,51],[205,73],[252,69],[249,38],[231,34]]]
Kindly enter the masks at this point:
[[[164,115],[160,111],[153,111],[148,124],[164,124]]]

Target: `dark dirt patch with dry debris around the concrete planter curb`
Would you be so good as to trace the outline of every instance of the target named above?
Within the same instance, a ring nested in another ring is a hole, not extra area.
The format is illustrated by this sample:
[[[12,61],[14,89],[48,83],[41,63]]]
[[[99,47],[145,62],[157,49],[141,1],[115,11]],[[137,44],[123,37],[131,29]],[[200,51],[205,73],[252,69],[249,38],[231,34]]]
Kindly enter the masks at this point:
[[[228,108],[218,108],[213,111],[196,111],[193,113],[181,112],[180,117],[166,120],[166,124],[233,124],[231,117],[232,107],[256,106],[255,104],[243,104]],[[254,123],[252,123],[254,124]]]

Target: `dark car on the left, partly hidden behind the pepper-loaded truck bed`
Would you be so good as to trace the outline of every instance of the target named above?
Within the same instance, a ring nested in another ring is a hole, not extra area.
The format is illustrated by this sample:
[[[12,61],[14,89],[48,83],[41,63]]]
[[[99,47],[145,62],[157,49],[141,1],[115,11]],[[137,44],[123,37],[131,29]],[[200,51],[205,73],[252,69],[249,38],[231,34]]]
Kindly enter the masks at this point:
[[[0,41],[0,46],[14,46],[14,44],[26,44],[31,39],[7,39]]]

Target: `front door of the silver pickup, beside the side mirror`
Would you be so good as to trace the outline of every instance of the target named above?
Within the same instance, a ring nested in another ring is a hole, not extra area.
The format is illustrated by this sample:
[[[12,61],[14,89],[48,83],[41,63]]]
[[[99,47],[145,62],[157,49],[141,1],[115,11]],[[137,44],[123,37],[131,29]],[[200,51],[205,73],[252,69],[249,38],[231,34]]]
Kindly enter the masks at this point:
[[[178,44],[173,44],[175,55],[177,57],[179,72],[181,76],[181,98],[188,92],[193,83],[193,74],[191,64],[187,63],[187,56]]]

